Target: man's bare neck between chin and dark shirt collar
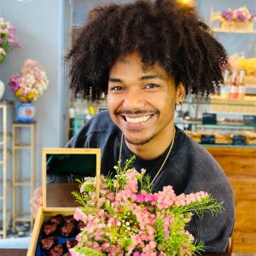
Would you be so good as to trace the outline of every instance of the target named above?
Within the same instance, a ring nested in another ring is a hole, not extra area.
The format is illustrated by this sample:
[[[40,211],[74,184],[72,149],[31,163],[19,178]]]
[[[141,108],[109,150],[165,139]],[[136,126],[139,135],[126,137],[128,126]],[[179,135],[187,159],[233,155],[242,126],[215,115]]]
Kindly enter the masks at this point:
[[[166,148],[172,143],[174,125],[172,124],[171,127],[168,125],[166,128],[167,132],[161,132],[143,145],[134,145],[128,143],[126,140],[125,144],[127,148],[139,158],[143,160],[153,160],[160,156],[160,154],[163,154],[166,151]]]

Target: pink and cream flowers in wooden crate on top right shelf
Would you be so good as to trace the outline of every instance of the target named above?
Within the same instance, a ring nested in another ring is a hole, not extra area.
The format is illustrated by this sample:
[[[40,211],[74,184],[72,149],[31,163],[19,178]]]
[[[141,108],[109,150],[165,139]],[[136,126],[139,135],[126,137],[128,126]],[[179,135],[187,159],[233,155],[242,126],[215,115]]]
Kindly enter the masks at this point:
[[[221,17],[226,21],[239,21],[247,22],[253,21],[255,15],[252,11],[249,11],[246,6],[240,7],[238,9],[226,9],[221,13]]]

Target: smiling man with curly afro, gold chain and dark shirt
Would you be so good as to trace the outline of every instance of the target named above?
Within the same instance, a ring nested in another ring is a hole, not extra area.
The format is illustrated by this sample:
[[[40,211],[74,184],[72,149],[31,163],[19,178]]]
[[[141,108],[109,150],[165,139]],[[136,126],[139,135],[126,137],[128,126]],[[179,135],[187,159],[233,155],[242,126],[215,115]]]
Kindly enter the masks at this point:
[[[93,99],[106,92],[108,111],[67,147],[102,148],[102,173],[136,154],[133,166],[147,170],[154,191],[172,185],[177,195],[203,190],[224,201],[218,216],[194,216],[188,227],[207,252],[224,252],[234,224],[230,183],[173,120],[186,93],[208,95],[223,81],[227,55],[207,25],[170,0],[111,4],[90,12],[68,57],[73,90]],[[33,213],[40,195],[32,198]]]

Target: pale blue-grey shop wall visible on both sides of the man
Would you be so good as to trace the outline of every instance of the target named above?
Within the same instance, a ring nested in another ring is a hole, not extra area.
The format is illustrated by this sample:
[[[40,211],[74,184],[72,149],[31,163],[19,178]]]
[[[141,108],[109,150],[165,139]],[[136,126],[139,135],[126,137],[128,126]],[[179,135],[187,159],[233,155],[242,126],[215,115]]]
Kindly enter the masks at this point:
[[[127,3],[129,0],[32,0],[22,2],[17,0],[0,0],[0,15],[4,20],[10,21],[17,27],[16,35],[23,44],[22,49],[14,49],[9,53],[0,67],[0,78],[6,84],[3,96],[6,100],[18,103],[13,92],[7,85],[7,80],[12,73],[17,72],[27,58],[32,58],[44,65],[49,78],[49,88],[44,96],[35,103],[38,121],[38,184],[41,183],[41,155],[42,148],[62,147],[66,143],[67,125],[65,110],[67,102],[63,102],[67,92],[67,83],[64,79],[64,5],[73,3],[73,23],[82,24],[84,14],[99,3]],[[215,10],[227,8],[236,9],[246,5],[248,9],[255,10],[255,0],[197,0],[200,14],[208,22],[211,7]],[[67,35],[68,36],[68,35]],[[251,34],[217,34],[218,40],[224,44],[229,55],[244,51],[247,57],[256,55],[255,35]],[[28,135],[25,134],[25,137]],[[28,165],[26,160],[24,165]],[[26,167],[25,167],[26,170]],[[9,170],[10,172],[10,170]],[[27,205],[29,196],[24,198]]]

